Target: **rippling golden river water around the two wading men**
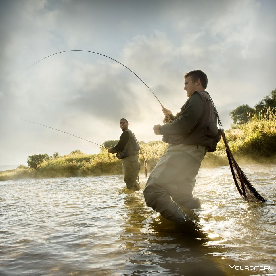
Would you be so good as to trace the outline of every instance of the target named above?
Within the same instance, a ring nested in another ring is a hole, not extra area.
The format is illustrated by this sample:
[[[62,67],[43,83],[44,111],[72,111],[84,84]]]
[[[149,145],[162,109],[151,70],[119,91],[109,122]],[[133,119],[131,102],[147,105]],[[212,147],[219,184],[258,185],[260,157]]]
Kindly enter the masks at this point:
[[[242,170],[276,198],[275,166]],[[1,276],[276,274],[276,205],[244,201],[229,167],[200,169],[202,208],[185,210],[198,230],[160,217],[122,175],[10,180],[0,189]]]

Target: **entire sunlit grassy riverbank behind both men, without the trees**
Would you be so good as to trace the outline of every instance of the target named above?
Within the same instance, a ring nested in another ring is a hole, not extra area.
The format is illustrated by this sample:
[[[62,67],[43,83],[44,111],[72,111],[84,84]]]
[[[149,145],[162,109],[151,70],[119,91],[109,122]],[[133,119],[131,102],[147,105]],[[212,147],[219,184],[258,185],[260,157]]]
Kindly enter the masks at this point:
[[[258,116],[251,114],[247,124],[239,125],[225,131],[229,147],[239,164],[248,162],[276,161],[276,120],[275,110]],[[141,143],[142,152],[147,160],[149,173],[156,162],[166,151],[167,144],[162,141]],[[122,174],[122,162],[114,154],[108,154],[101,148],[98,154],[68,154],[42,162],[36,170],[20,166],[15,170],[0,172],[0,180],[21,178],[74,177]],[[144,173],[144,161],[141,156],[141,173]],[[228,166],[223,140],[218,143],[217,150],[208,153],[202,167]]]

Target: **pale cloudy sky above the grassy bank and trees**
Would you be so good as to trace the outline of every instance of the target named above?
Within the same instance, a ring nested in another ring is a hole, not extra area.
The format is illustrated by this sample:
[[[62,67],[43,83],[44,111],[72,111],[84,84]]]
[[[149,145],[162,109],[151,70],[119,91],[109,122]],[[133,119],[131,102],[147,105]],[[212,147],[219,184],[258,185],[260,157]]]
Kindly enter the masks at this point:
[[[224,129],[229,112],[276,88],[274,0],[1,0],[0,165],[99,146],[121,135],[160,140],[161,106],[187,100],[184,74],[203,70]],[[30,65],[34,64],[30,68]],[[26,71],[24,71],[28,68]],[[24,72],[23,72],[24,71]]]

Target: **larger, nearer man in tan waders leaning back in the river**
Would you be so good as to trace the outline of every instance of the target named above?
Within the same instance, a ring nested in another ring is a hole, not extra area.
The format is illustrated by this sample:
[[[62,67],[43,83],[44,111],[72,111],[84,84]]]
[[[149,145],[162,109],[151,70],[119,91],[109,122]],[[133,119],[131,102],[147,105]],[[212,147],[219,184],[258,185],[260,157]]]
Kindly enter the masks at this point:
[[[188,221],[180,206],[199,208],[192,192],[205,154],[216,150],[217,117],[209,94],[207,76],[200,70],[185,74],[188,99],[176,116],[166,108],[172,122],[153,127],[168,143],[165,154],[152,170],[144,189],[147,206],[176,223]],[[171,198],[173,200],[171,200]]]

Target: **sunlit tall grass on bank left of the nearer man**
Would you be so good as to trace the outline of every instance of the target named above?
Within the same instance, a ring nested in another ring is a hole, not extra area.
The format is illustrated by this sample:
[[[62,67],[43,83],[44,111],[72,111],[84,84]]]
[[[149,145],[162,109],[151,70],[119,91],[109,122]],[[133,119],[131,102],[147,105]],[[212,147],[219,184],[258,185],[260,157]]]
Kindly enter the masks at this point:
[[[165,153],[167,144],[162,141],[141,143],[141,150],[147,162],[147,171],[151,171],[157,160]],[[144,160],[139,154],[141,173],[145,172]],[[0,180],[19,178],[74,177],[122,174],[122,161],[115,154],[109,154],[101,148],[98,154],[83,154],[76,151],[65,156],[52,158],[37,166],[36,170],[21,168],[0,172]]]

